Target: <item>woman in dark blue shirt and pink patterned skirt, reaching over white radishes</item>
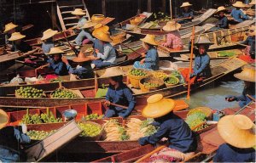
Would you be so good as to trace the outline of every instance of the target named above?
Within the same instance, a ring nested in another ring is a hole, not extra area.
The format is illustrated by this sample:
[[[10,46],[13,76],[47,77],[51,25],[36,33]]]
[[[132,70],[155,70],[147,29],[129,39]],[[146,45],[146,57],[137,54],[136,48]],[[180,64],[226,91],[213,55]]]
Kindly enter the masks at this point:
[[[162,138],[167,138],[170,145],[160,152],[151,155],[152,162],[175,162],[188,159],[195,154],[197,147],[196,139],[193,136],[188,124],[182,118],[175,115],[172,110],[175,101],[163,98],[161,94],[154,94],[147,100],[148,104],[143,109],[143,116],[154,118],[160,128],[153,135],[140,138],[141,145],[158,143]]]

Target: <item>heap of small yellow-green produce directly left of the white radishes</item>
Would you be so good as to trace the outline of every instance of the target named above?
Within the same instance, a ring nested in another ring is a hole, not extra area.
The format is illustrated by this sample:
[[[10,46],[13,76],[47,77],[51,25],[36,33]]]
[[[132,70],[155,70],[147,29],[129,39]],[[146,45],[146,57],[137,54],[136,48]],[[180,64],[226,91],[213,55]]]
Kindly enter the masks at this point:
[[[79,123],[79,127],[83,131],[80,137],[96,137],[102,132],[102,127],[93,123]]]

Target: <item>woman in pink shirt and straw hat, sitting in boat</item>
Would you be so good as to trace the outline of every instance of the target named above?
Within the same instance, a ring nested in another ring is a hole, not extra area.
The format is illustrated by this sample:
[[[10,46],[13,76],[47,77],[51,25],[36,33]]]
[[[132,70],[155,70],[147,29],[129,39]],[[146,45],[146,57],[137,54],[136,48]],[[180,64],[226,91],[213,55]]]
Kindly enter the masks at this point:
[[[162,46],[170,48],[173,51],[183,50],[183,42],[178,31],[180,27],[181,25],[175,21],[167,22],[167,24],[163,27],[163,30],[167,31],[168,34],[166,42],[163,42]]]

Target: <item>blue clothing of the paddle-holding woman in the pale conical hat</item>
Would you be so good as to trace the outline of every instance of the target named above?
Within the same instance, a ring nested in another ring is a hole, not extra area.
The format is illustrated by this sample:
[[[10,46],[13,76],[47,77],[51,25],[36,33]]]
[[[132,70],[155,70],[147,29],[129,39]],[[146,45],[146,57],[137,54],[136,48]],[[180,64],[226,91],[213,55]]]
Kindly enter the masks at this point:
[[[125,110],[123,117],[131,115],[131,111],[134,109],[136,101],[134,96],[131,93],[129,87],[126,87],[125,84],[121,84],[117,89],[113,86],[108,87],[108,92],[106,95],[106,100],[110,101],[113,104],[120,104],[128,106],[128,109],[110,105],[110,110],[115,110],[116,112],[123,112]]]

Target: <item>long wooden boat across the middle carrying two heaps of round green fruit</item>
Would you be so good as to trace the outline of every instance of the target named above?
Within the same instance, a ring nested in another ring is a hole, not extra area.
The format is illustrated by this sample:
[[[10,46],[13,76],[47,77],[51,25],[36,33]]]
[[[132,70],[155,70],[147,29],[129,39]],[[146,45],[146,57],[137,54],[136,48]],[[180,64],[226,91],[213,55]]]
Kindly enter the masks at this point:
[[[192,90],[195,90],[199,87],[204,87],[209,83],[212,83],[219,78],[226,76],[230,72],[237,70],[243,65],[247,65],[246,62],[241,59],[231,58],[227,59],[218,65],[212,66],[212,77],[209,77],[202,82],[196,84]],[[124,81],[126,78],[124,77]],[[98,78],[96,80],[86,79],[81,81],[74,82],[61,82],[61,86],[66,87],[68,89],[78,90],[79,93],[82,94],[83,98],[73,98],[73,99],[61,99],[61,98],[15,98],[15,90],[20,86],[3,86],[0,87],[0,105],[13,105],[13,106],[55,106],[60,104],[78,104],[84,103],[87,101],[99,101],[102,98],[95,98],[97,86],[102,86],[105,84],[108,86],[108,79],[106,78]],[[31,85],[32,87],[36,87],[38,89],[43,89],[49,97],[49,94],[60,87],[59,83],[51,83],[51,84],[39,84],[39,85]],[[128,85],[130,86],[130,85]],[[131,87],[131,91],[135,94],[135,97],[143,97],[153,95],[155,93],[161,93],[165,97],[175,97],[177,95],[181,95],[183,93],[187,93],[188,88],[186,84],[177,84],[173,87],[165,87],[159,90],[151,91],[148,93],[142,93],[141,90],[135,89]]]

